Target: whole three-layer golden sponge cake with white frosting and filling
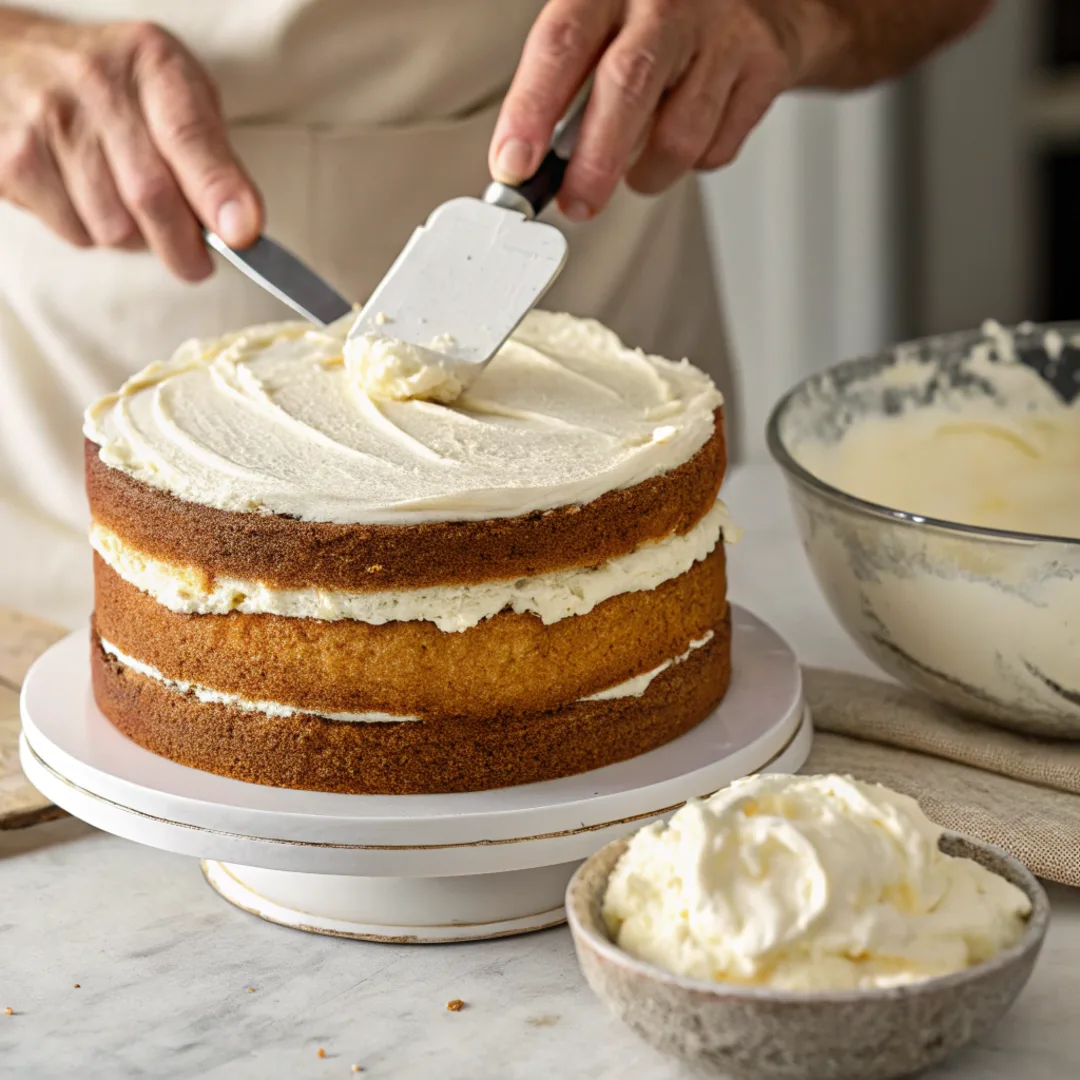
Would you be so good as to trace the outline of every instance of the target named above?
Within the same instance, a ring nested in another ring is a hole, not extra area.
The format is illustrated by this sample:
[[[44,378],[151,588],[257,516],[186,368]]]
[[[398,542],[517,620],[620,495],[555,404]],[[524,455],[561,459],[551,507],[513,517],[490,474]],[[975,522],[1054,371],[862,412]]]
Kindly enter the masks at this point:
[[[348,320],[184,346],[86,414],[94,692],[140,745],[326,792],[594,769],[730,677],[720,396],[532,312],[453,404]]]

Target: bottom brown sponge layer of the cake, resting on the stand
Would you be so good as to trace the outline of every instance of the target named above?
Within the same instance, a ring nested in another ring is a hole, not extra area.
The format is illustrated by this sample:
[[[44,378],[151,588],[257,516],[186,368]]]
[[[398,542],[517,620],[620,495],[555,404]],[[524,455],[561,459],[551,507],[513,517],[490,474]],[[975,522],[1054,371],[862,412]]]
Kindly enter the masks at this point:
[[[730,649],[725,618],[708,645],[640,698],[402,724],[279,719],[206,704],[125,667],[96,639],[91,666],[102,712],[140,746],[181,765],[278,787],[416,795],[552,780],[654,750],[719,703],[731,677]]]

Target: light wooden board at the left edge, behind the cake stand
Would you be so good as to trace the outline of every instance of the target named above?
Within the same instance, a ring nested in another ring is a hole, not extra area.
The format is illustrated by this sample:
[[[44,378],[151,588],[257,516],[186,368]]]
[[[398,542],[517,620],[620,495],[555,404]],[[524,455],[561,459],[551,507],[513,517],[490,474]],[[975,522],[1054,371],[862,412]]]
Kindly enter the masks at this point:
[[[0,608],[0,828],[22,828],[59,818],[18,767],[18,690],[30,664],[67,631]]]

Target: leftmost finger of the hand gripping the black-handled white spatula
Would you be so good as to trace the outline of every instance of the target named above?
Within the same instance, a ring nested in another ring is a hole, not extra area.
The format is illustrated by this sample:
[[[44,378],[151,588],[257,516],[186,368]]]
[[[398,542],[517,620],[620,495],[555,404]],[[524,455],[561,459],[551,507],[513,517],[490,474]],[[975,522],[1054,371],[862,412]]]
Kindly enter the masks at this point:
[[[616,0],[552,0],[522,51],[491,136],[488,166],[503,184],[521,184],[543,160],[559,117],[615,32]]]

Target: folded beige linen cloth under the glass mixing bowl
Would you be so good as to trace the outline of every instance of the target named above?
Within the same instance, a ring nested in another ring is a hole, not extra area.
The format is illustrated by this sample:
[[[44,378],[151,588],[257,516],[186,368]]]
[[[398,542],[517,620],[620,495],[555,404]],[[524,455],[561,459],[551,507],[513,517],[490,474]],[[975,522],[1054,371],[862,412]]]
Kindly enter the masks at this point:
[[[1080,742],[969,720],[861,675],[807,669],[804,677],[816,732],[804,772],[886,784],[944,828],[1080,886]]]

